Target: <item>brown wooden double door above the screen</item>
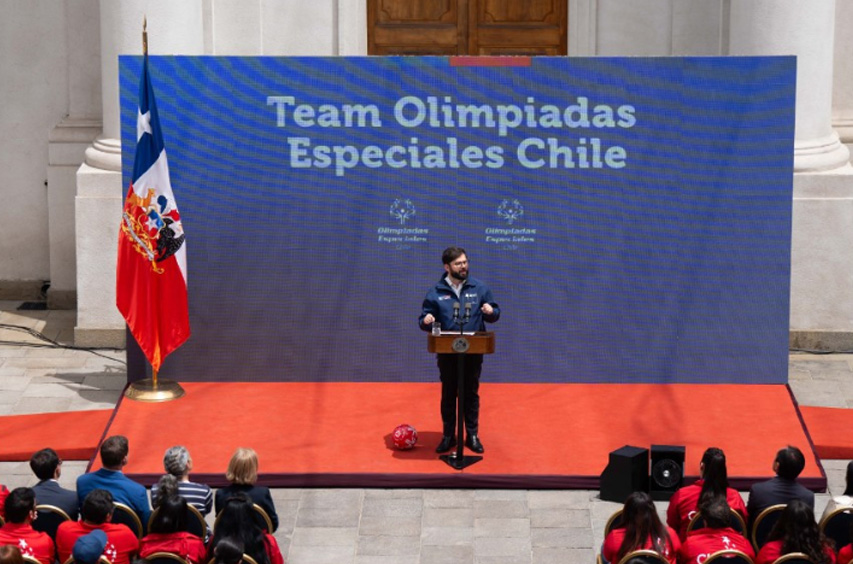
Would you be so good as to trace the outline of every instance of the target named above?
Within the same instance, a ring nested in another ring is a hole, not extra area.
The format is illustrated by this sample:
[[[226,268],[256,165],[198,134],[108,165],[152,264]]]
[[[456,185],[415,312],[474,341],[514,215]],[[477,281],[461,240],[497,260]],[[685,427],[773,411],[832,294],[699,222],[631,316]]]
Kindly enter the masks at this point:
[[[370,55],[566,55],[568,0],[368,0]]]

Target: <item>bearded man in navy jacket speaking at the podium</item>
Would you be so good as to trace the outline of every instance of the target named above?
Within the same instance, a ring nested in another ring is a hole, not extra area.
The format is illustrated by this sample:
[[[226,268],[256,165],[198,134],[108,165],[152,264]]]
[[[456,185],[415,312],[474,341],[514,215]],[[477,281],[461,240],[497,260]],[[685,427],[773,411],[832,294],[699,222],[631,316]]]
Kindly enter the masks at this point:
[[[494,323],[501,316],[498,304],[492,299],[489,287],[468,276],[468,256],[461,247],[448,247],[441,254],[445,276],[427,292],[424,298],[420,323],[424,331],[439,323],[443,331],[485,331],[486,321]],[[438,371],[441,375],[441,421],[443,437],[435,449],[447,452],[456,446],[456,391],[458,361],[455,354],[439,354]],[[480,418],[480,372],[483,355],[465,355],[465,446],[476,453],[483,452],[483,443],[477,436]],[[460,437],[461,440],[461,437]]]

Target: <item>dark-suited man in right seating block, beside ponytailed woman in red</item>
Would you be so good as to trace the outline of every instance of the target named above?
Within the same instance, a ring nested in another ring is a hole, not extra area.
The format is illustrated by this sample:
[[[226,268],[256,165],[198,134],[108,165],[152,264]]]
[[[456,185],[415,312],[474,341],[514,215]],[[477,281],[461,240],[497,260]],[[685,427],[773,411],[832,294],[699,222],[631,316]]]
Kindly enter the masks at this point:
[[[771,505],[787,504],[793,499],[799,499],[814,510],[814,493],[796,481],[805,466],[806,457],[797,447],[787,446],[776,453],[773,460],[776,476],[749,488],[749,501],[746,504],[748,530],[752,530],[755,519]]]

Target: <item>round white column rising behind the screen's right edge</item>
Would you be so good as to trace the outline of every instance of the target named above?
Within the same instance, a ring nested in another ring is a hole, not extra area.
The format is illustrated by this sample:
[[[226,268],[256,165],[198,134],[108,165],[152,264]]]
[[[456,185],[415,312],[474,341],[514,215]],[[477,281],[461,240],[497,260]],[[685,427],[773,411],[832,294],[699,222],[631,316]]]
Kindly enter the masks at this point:
[[[847,165],[832,129],[835,0],[731,0],[730,16],[730,55],[797,56],[794,171]]]

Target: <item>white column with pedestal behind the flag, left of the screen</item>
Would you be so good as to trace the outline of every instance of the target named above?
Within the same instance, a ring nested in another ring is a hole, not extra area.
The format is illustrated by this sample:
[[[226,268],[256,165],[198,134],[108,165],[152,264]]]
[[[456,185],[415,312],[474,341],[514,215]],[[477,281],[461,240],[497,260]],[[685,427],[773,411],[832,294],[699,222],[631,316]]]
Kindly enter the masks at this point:
[[[149,54],[204,52],[202,1],[101,0],[103,133],[77,171],[77,326],[81,346],[123,346],[124,320],[115,306],[115,264],[124,188],[119,141],[118,56],[142,53],[148,19]]]

